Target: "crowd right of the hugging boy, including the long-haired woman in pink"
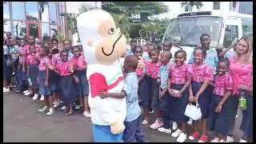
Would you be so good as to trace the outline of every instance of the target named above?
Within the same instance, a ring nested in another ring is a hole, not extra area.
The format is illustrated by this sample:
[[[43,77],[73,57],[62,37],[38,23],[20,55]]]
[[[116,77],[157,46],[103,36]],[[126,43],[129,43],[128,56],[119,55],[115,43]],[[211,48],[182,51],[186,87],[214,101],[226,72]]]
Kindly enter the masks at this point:
[[[247,109],[242,110],[240,142],[252,142],[253,134],[253,65],[252,38],[241,38],[221,53],[210,48],[210,35],[202,34],[201,45],[186,63],[186,51],[172,55],[171,42],[159,47],[137,46],[131,41],[131,50],[145,60],[145,68],[137,69],[138,99],[142,107],[142,124],[150,122],[153,109],[155,122],[150,128],[171,134],[177,142],[186,141],[186,132],[192,123],[190,140],[209,142],[208,130],[214,131],[210,142],[234,142],[234,122],[238,101],[246,98]],[[234,50],[230,50],[234,48]],[[173,58],[174,57],[174,58]],[[184,114],[189,102],[197,103],[202,119],[194,121]]]

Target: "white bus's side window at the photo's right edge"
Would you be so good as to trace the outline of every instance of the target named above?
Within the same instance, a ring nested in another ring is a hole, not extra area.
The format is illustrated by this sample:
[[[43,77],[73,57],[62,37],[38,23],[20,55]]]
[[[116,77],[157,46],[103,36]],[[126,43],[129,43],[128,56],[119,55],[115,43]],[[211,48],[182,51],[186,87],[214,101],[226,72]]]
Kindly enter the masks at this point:
[[[253,37],[253,21],[242,19],[242,37]]]

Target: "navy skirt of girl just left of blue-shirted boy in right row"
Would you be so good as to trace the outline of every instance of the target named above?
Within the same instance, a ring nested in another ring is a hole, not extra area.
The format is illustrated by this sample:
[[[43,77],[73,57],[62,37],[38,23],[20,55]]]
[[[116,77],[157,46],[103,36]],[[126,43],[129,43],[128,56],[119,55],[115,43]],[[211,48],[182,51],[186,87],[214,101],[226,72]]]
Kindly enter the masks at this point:
[[[151,96],[151,107],[154,110],[158,110],[161,101],[159,99],[159,85],[157,78],[150,78],[150,96]]]

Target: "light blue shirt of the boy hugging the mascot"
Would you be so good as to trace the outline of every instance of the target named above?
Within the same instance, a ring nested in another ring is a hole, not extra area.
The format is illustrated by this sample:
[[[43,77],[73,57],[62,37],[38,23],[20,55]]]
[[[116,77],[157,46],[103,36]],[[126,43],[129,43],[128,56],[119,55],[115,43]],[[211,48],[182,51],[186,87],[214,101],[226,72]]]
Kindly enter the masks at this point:
[[[126,92],[126,122],[131,122],[141,115],[141,108],[138,106],[138,77],[135,72],[126,74],[125,86],[122,88]]]

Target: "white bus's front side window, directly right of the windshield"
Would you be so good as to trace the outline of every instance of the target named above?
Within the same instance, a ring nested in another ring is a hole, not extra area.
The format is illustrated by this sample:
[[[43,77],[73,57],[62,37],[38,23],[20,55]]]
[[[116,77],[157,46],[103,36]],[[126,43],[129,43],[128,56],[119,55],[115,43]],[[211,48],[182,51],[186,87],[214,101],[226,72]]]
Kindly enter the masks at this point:
[[[238,38],[238,26],[226,25],[223,46],[229,47],[234,38]]]

